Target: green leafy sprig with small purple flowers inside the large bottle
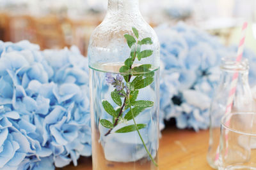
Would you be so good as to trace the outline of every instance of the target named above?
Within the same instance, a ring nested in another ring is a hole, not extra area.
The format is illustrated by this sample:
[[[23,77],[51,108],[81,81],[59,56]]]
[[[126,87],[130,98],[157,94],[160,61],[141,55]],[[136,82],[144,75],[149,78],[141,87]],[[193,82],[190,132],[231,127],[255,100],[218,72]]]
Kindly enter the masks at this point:
[[[109,78],[112,85],[115,87],[115,90],[111,92],[111,98],[118,105],[118,108],[115,110],[108,101],[102,101],[104,110],[111,115],[111,117],[113,117],[113,120],[110,122],[109,120],[101,119],[100,124],[109,129],[109,131],[105,134],[105,136],[108,136],[116,125],[133,120],[133,125],[124,126],[116,130],[115,133],[137,131],[150,159],[154,165],[157,166],[156,162],[152,158],[152,155],[150,152],[148,152],[147,146],[145,145],[139,131],[140,129],[147,127],[147,124],[136,124],[135,121],[135,117],[140,115],[142,111],[144,111],[146,108],[154,106],[154,102],[152,101],[136,101],[139,94],[139,89],[147,87],[154,81],[154,72],[150,71],[152,67],[151,64],[142,64],[136,67],[132,66],[134,60],[141,60],[152,55],[152,50],[141,51],[141,45],[152,45],[152,40],[151,38],[139,40],[138,30],[135,27],[132,27],[132,31],[135,37],[130,34],[124,35],[127,45],[129,48],[131,48],[131,53],[128,59],[125,60],[124,66],[120,67],[119,69],[119,72],[122,74],[122,76],[124,76],[126,83],[121,83],[120,78],[117,76],[116,79],[113,77]],[[132,76],[134,76],[134,79],[131,81]],[[124,99],[122,100],[122,98]],[[126,114],[124,115],[124,113]]]

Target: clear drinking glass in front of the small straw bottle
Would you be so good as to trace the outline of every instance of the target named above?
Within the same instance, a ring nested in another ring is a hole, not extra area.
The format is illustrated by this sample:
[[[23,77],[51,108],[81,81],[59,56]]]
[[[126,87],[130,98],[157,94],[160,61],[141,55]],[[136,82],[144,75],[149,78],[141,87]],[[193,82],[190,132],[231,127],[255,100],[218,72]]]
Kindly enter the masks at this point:
[[[256,169],[256,113],[232,113],[221,119],[218,169]]]

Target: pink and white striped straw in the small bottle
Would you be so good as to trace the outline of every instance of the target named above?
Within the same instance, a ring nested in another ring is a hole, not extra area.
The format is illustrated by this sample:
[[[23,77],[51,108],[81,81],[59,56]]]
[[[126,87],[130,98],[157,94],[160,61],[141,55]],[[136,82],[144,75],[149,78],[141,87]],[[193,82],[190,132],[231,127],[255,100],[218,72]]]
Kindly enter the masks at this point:
[[[241,62],[241,59],[243,57],[244,40],[245,40],[247,25],[248,25],[247,22],[244,22],[242,32],[241,32],[241,39],[240,39],[240,43],[239,43],[238,50],[237,50],[237,57],[236,57],[237,62]],[[236,73],[234,73],[232,81],[231,81],[231,87],[230,87],[230,92],[228,94],[228,101],[227,101],[227,105],[226,105],[225,114],[230,113],[231,110],[232,110],[232,106],[233,106],[233,102],[234,102],[234,96],[235,96],[235,93],[236,93],[238,76],[239,76],[239,73],[238,73],[238,71],[236,71]],[[226,124],[229,125],[230,121],[228,121]],[[228,139],[227,132],[225,133],[225,139],[226,139],[226,141]],[[226,146],[226,147],[228,148],[228,146]],[[220,149],[220,145],[218,146],[217,151],[216,151],[215,162],[218,161],[219,156],[220,156],[220,150],[219,149]],[[226,153],[227,153],[227,150],[226,150]]]

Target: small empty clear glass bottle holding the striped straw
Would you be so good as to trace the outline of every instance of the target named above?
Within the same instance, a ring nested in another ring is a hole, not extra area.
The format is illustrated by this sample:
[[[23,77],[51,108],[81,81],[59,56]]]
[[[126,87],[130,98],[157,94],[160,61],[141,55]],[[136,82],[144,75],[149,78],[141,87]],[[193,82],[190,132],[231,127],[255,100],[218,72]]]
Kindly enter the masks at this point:
[[[238,73],[238,78],[231,113],[254,110],[253,97],[248,83],[248,60],[243,59],[237,62],[235,57],[225,57],[221,59],[221,62],[221,77],[210,108],[210,136],[207,153],[208,164],[214,169],[218,168],[221,117],[226,111],[228,94],[235,73]]]

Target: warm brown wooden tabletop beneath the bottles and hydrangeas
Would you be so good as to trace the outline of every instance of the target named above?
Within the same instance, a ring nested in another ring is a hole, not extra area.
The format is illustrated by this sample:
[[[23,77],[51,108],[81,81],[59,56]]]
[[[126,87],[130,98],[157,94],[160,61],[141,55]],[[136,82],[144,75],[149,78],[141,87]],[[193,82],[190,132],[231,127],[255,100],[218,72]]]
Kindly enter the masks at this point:
[[[209,131],[195,132],[169,126],[162,131],[159,146],[159,170],[212,170],[207,164]],[[81,157],[77,167],[61,170],[92,170],[92,159]]]

